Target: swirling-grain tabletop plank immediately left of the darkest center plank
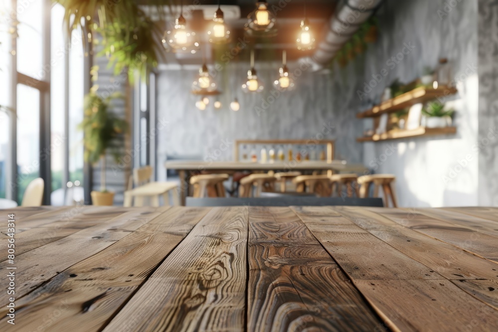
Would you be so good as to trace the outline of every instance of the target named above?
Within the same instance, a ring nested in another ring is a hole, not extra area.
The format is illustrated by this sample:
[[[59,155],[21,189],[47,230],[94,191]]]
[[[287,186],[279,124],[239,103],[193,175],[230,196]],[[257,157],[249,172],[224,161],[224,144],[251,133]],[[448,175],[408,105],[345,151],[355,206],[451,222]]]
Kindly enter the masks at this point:
[[[244,331],[248,208],[213,208],[105,328]]]

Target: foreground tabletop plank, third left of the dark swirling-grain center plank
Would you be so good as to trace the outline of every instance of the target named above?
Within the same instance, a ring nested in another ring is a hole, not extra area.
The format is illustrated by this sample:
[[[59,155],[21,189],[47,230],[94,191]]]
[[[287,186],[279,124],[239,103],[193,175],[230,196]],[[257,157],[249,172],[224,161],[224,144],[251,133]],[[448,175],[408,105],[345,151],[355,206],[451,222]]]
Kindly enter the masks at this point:
[[[31,292],[68,267],[114,244],[138,227],[159,216],[167,208],[135,208],[110,221],[80,230],[74,234],[15,257],[15,264],[0,263],[0,284],[8,284],[7,267],[15,270],[15,298]],[[0,305],[7,304],[7,297]]]

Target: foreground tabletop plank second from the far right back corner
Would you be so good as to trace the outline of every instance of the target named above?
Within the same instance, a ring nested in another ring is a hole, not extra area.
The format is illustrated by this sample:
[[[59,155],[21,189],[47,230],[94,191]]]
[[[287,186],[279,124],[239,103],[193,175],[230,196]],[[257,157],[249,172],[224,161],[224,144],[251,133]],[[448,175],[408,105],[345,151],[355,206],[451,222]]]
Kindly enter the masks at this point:
[[[477,232],[498,237],[498,223],[488,219],[474,217],[459,212],[443,209],[417,209],[422,214],[434,219],[450,222],[454,225],[471,228]]]

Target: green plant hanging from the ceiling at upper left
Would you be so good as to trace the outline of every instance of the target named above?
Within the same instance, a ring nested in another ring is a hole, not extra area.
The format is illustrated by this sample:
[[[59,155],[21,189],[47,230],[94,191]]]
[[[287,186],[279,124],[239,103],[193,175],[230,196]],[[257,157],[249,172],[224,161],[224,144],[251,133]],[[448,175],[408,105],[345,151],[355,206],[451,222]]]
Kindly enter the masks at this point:
[[[107,55],[115,74],[127,70],[130,81],[135,71],[145,75],[162,54],[159,26],[134,0],[54,0],[65,8],[68,33],[81,28],[83,45],[92,42],[98,55]],[[148,1],[144,1],[148,2]],[[149,1],[156,3],[157,1]],[[159,4],[159,2],[157,2]],[[96,20],[97,18],[97,20]],[[102,41],[95,38],[100,34]]]

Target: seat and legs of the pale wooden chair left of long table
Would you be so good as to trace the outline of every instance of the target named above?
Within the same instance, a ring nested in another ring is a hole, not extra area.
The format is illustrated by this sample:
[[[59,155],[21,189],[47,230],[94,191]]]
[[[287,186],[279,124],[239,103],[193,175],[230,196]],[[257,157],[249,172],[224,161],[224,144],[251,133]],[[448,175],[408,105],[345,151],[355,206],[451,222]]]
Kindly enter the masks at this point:
[[[178,186],[175,182],[150,182],[143,186],[136,187],[124,192],[124,207],[130,207],[133,202],[134,207],[143,206],[143,198],[150,197],[153,207],[159,206],[159,196],[164,199],[164,205],[169,205],[169,198],[173,200],[173,205],[180,205]]]

